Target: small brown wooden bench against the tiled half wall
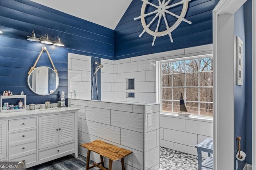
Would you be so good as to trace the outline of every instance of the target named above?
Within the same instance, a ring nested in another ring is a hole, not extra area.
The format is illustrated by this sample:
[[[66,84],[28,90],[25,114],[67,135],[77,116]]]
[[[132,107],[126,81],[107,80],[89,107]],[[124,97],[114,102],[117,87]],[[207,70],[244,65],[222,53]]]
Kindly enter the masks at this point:
[[[124,157],[127,156],[128,154],[131,154],[132,151],[123,149],[120,147],[117,147],[115,145],[111,145],[109,143],[106,143],[104,141],[96,140],[91,143],[84,143],[81,144],[82,147],[88,149],[87,152],[87,160],[86,160],[86,170],[93,168],[97,166],[101,170],[112,170],[112,162],[113,160],[119,160],[121,159],[122,163],[122,170],[125,170],[124,168]],[[90,152],[96,152],[100,154],[100,162],[99,163],[93,163],[92,166],[89,167],[89,161],[90,161]],[[103,156],[106,158],[109,158],[109,168],[104,167],[104,162],[103,162]],[[101,166],[100,166],[101,164]]]

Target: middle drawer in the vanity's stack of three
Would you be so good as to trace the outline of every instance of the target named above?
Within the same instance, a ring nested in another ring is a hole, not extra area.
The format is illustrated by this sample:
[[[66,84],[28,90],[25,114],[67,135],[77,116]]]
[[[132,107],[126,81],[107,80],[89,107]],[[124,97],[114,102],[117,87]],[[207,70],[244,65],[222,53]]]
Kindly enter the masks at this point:
[[[22,141],[27,140],[35,140],[36,141],[36,129],[22,131],[22,132],[15,132],[9,133],[9,143],[20,143]]]

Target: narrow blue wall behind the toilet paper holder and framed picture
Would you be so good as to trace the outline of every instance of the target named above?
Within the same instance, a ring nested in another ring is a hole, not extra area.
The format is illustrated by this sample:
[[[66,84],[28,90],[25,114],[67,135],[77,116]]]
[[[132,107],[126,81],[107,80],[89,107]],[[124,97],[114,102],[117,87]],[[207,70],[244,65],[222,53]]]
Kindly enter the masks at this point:
[[[238,161],[238,170],[246,163],[252,164],[252,1],[248,0],[234,14],[234,31],[243,41],[243,86],[234,88],[234,144],[235,154],[238,151],[237,136],[242,138],[241,148],[246,152],[246,160]],[[235,155],[234,155],[234,159]],[[236,166],[235,166],[236,167]],[[235,168],[236,170],[236,168]]]

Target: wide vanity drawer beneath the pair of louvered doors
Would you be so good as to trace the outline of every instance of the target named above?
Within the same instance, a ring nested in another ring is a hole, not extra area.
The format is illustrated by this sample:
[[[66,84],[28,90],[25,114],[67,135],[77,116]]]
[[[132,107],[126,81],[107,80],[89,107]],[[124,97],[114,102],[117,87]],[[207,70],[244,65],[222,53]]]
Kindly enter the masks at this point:
[[[58,154],[63,154],[65,152],[69,152],[72,150],[75,150],[75,143],[62,145],[60,147],[55,147],[52,149],[42,150],[42,151],[39,151],[39,161],[46,158],[50,158],[52,156],[56,156]]]

